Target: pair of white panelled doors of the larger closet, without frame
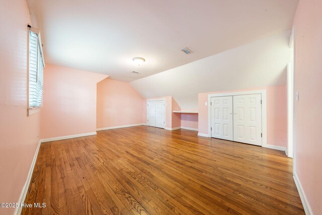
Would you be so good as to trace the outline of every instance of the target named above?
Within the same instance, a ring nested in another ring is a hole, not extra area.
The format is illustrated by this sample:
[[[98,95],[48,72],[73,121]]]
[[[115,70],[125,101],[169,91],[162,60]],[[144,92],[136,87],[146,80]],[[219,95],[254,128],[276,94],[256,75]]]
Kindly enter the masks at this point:
[[[211,137],[262,146],[261,94],[211,97]]]

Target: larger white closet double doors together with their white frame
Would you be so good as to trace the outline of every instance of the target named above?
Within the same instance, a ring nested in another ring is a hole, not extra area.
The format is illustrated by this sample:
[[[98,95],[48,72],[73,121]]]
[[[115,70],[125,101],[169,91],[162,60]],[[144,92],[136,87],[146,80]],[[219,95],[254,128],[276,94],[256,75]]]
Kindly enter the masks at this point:
[[[208,95],[208,137],[267,145],[266,90]]]

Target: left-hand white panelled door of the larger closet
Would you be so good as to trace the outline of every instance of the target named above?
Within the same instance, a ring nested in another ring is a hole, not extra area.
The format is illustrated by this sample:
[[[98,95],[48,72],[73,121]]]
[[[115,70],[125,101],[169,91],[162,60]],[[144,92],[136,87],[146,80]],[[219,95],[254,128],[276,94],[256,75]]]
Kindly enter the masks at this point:
[[[211,98],[211,137],[233,140],[232,96]]]

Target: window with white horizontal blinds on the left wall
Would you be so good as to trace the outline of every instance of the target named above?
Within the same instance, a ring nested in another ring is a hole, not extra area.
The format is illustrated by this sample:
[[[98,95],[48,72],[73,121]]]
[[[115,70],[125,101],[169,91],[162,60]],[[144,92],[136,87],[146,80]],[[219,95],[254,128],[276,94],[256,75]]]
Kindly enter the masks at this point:
[[[44,59],[39,30],[29,27],[29,87],[28,105],[30,109],[42,107]],[[29,114],[30,115],[30,114]]]

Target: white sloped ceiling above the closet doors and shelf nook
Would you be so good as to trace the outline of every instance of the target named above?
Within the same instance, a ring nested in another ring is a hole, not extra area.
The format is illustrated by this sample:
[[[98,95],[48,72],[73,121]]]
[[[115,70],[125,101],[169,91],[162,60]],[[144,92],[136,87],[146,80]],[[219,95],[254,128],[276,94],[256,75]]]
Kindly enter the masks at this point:
[[[290,31],[230,49],[130,84],[145,98],[173,96],[198,108],[198,93],[284,85]]]

